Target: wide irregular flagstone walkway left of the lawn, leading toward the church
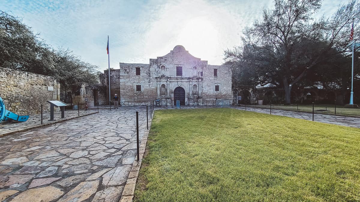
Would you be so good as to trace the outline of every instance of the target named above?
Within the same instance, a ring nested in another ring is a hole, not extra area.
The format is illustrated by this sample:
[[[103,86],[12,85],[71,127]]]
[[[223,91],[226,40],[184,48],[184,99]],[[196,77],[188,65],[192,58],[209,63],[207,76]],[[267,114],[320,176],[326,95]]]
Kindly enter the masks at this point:
[[[119,201],[136,156],[136,110],[141,141],[146,107],[0,137],[1,201]]]

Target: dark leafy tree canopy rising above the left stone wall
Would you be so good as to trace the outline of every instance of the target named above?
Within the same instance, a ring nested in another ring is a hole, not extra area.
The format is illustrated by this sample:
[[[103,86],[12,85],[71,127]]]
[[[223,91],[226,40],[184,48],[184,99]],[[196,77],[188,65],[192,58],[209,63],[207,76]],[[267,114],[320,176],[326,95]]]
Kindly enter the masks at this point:
[[[72,51],[53,49],[22,19],[0,11],[0,67],[55,77],[62,88],[98,81],[98,67]]]

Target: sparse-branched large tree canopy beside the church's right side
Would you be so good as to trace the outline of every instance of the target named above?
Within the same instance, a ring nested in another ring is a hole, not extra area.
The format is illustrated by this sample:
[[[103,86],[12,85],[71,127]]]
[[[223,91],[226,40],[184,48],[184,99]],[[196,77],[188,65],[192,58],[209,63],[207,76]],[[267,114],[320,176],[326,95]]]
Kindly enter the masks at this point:
[[[329,19],[313,17],[321,0],[274,3],[274,9],[263,9],[261,20],[244,29],[242,46],[225,51],[225,60],[233,65],[234,84],[283,88],[288,104],[294,86],[348,86],[350,28],[353,19],[355,26],[359,24],[360,3],[351,0],[339,6]],[[354,40],[359,39],[356,33]],[[360,80],[358,65],[355,72]]]

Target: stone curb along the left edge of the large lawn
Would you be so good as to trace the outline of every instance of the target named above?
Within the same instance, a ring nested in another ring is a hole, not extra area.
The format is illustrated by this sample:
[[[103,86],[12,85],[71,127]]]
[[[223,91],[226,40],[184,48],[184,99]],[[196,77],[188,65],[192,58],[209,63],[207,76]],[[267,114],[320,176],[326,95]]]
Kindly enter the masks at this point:
[[[149,132],[151,129],[151,123],[152,123],[153,118],[154,118],[154,116],[152,117],[152,119],[149,119],[149,129],[145,130],[144,136],[141,139],[141,143],[139,145],[139,161],[136,160],[137,156],[138,156],[138,155],[136,155],[134,163],[132,164],[129,176],[127,177],[127,181],[126,181],[124,190],[122,191],[120,202],[131,202],[132,199],[134,198],[135,186],[136,186],[136,182],[138,181],[139,171],[141,168],[141,163],[143,161],[145,148],[146,148],[146,144],[148,142]]]

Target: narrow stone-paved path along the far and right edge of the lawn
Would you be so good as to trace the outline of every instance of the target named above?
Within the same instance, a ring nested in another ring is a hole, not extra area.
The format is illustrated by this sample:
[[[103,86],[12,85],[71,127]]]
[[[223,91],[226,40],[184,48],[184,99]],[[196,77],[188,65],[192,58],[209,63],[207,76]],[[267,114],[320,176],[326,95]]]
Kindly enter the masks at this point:
[[[207,106],[207,108],[214,108],[214,107],[215,106]],[[231,105],[231,108],[238,109],[238,110],[245,110],[244,106]],[[155,107],[155,110],[158,110],[158,109],[175,109],[175,107],[171,107],[171,106],[170,107],[165,107],[165,106]],[[181,109],[206,109],[206,106],[181,106]],[[246,107],[246,110],[254,111],[257,113],[270,114],[270,109],[265,109],[265,108]],[[273,110],[271,110],[271,114],[312,121],[312,113],[273,109]],[[314,121],[318,121],[321,123],[336,124],[336,125],[360,128],[360,118],[356,118],[356,117],[337,116],[337,115],[329,115],[329,114],[314,114]]]

